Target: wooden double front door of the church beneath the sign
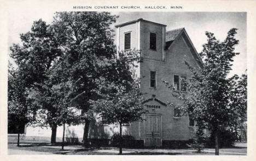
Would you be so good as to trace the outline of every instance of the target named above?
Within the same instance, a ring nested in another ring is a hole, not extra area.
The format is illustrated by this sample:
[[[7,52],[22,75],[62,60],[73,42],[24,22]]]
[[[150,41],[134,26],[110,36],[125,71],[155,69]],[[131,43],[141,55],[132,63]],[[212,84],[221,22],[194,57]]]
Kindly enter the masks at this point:
[[[145,146],[161,146],[161,116],[145,116]]]

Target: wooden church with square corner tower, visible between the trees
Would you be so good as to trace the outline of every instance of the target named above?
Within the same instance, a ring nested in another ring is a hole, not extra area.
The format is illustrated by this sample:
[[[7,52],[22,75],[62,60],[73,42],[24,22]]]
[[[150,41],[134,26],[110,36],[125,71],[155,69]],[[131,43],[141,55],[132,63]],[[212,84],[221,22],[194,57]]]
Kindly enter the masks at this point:
[[[171,95],[162,79],[173,84],[176,90],[187,92],[184,80],[189,78],[189,70],[184,60],[191,66],[200,68],[202,61],[196,52],[185,28],[166,31],[166,25],[139,18],[115,26],[117,57],[121,51],[136,49],[141,51],[136,75],[141,81],[141,91],[145,93],[145,121],[132,122],[123,126],[123,133],[141,140],[144,146],[162,146],[170,140],[189,140],[194,137],[194,121],[181,116],[179,110],[168,105],[181,103]],[[84,125],[69,126],[67,138],[83,139]],[[96,125],[91,123],[89,138],[110,138],[119,133],[116,125]],[[26,137],[50,137],[51,130],[27,127]],[[62,128],[57,128],[57,138],[62,137]]]

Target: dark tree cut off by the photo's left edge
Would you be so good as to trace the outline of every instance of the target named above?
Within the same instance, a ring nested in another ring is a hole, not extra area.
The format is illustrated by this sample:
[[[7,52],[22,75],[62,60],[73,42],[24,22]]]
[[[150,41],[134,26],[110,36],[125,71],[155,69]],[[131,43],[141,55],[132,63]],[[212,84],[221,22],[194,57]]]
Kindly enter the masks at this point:
[[[10,63],[8,67],[8,133],[18,133],[20,146],[20,133],[24,133],[26,123],[34,120],[33,108],[26,100],[28,93],[20,71]]]

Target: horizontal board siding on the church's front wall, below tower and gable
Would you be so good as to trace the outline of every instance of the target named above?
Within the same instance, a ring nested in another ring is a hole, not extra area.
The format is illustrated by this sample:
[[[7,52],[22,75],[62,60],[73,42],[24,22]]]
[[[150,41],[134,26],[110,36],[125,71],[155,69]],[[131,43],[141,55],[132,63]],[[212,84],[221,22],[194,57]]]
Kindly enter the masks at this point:
[[[141,90],[146,93],[148,98],[155,95],[162,102],[171,101],[174,104],[181,103],[177,98],[171,96],[171,92],[166,88],[165,84],[161,82],[162,79],[173,83],[173,75],[189,76],[188,68],[183,64],[184,59],[193,66],[197,66],[195,58],[186,45],[183,36],[173,42],[171,49],[166,51],[166,61],[158,61],[154,58],[160,58],[161,53],[155,53],[154,57],[144,58],[141,63]],[[147,53],[145,52],[145,55]],[[156,71],[156,88],[149,87],[149,73],[150,70]],[[156,101],[150,101],[149,104],[160,105]],[[188,140],[193,137],[193,128],[189,128],[189,119],[187,116],[175,118],[174,107],[162,106],[160,109],[149,109],[150,113],[161,114],[162,122],[162,140]],[[144,138],[144,122],[141,123],[141,139]]]

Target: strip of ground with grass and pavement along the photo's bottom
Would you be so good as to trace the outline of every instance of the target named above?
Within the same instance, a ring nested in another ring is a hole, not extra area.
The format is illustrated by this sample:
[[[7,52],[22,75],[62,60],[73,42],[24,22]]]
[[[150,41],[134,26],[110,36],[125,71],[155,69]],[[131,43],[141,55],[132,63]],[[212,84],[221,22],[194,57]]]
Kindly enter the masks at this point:
[[[246,143],[236,147],[221,148],[220,155],[246,155]],[[67,154],[67,155],[114,155],[119,153],[117,147],[85,148],[82,145],[68,145],[61,150],[61,143],[51,145],[49,140],[34,140],[22,138],[20,147],[17,146],[15,135],[8,136],[9,154]],[[202,153],[192,149],[130,149],[123,148],[125,155],[214,155],[213,148],[205,148]]]

